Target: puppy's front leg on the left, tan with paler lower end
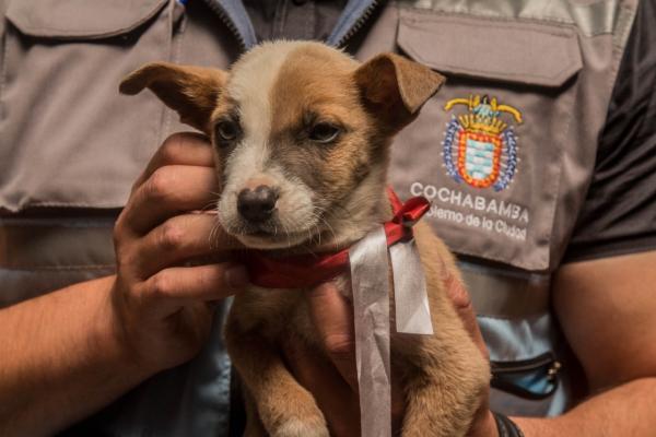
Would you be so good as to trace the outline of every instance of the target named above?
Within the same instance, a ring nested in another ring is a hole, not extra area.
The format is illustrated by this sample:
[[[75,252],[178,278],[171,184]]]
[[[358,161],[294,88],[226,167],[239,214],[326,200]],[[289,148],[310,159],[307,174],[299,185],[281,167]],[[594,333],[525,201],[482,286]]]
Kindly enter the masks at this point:
[[[248,390],[247,395],[257,406],[269,435],[329,436],[324,415],[313,395],[298,385],[278,351],[259,332],[241,330],[238,322],[231,317],[225,327],[225,340],[233,364]],[[249,429],[257,427],[250,426]]]

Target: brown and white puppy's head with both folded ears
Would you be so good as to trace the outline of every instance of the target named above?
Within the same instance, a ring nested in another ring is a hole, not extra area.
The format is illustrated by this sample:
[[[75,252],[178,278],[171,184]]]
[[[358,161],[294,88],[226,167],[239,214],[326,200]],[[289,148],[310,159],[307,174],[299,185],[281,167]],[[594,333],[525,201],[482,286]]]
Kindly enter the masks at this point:
[[[230,72],[150,63],[120,91],[149,87],[206,132],[224,228],[249,247],[284,248],[371,221],[391,137],[443,82],[393,54],[361,64],[318,43],[278,42],[254,48]]]

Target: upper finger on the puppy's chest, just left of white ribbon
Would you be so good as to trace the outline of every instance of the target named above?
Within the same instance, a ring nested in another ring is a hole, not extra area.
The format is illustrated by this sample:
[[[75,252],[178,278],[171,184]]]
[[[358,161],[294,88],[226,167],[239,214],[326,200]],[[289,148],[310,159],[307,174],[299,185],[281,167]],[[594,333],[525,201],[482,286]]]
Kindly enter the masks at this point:
[[[330,283],[319,285],[307,296],[309,312],[324,349],[351,389],[358,392],[353,308]]]

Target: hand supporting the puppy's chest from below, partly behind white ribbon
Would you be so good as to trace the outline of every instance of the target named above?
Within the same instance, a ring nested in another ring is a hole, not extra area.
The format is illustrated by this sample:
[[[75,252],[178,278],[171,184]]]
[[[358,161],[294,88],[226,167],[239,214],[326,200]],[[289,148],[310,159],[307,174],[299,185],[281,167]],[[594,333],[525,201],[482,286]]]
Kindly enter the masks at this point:
[[[453,277],[446,279],[445,285],[465,329],[487,358],[488,350],[467,291]],[[314,394],[331,434],[337,437],[359,435],[360,402],[352,305],[330,283],[319,285],[307,298],[313,322],[331,363],[326,363],[298,342],[284,345],[285,357],[298,382]],[[405,400],[399,378],[395,377],[394,363],[391,371],[391,421],[396,435],[400,434],[402,426]],[[496,437],[496,425],[489,409],[489,390],[481,393],[480,401],[468,437]]]

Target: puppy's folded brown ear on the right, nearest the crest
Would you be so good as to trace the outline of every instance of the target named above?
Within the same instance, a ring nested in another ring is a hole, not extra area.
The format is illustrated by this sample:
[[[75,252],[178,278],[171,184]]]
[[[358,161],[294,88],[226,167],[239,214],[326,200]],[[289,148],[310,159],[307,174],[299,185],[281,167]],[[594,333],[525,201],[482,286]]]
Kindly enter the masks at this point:
[[[367,109],[393,132],[412,121],[445,82],[442,74],[395,54],[363,63],[354,79]]]

